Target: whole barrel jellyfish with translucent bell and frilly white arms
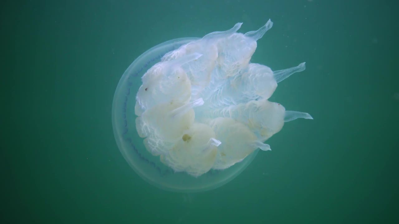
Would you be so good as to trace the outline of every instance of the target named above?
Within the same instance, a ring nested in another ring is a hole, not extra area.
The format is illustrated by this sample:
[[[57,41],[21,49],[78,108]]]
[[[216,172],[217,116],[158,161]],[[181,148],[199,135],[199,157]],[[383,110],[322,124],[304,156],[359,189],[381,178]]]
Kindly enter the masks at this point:
[[[273,26],[180,38],[138,57],[119,81],[112,121],[118,147],[146,181],[171,191],[205,191],[236,177],[284,122],[313,119],[269,101],[305,63],[272,71],[251,62]],[[141,77],[141,80],[140,80]]]

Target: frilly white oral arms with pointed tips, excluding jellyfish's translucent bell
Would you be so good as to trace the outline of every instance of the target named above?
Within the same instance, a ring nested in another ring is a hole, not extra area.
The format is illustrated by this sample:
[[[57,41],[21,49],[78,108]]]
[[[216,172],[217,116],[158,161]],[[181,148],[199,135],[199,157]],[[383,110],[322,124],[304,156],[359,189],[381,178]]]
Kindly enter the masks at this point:
[[[242,23],[166,53],[142,76],[136,95],[136,130],[153,155],[194,177],[227,169],[260,148],[296,118],[268,99],[277,83],[305,70],[305,63],[272,71],[250,63],[257,40],[273,26],[237,33]]]

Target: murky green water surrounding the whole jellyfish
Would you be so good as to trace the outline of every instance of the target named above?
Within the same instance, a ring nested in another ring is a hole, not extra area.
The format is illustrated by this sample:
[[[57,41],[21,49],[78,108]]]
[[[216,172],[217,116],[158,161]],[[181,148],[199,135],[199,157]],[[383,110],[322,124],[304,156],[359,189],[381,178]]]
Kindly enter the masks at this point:
[[[2,1],[1,223],[398,223],[397,1]],[[306,61],[272,100],[309,112],[230,183],[143,181],[113,136],[113,94],[150,47],[274,26],[253,62]]]

